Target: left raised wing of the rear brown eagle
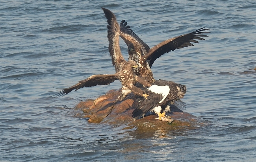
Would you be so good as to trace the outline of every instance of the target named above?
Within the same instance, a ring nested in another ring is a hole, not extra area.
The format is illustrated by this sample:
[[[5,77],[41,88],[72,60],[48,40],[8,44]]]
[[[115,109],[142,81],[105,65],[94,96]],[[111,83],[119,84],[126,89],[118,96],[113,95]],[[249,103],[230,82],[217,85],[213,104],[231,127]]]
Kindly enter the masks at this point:
[[[120,23],[120,37],[124,40],[127,46],[128,44],[137,44],[137,46],[139,46],[144,52],[143,55],[150,49],[149,46],[143,42],[143,40],[141,40],[134,31],[132,31],[130,26],[127,26],[127,22],[125,20],[122,20]]]

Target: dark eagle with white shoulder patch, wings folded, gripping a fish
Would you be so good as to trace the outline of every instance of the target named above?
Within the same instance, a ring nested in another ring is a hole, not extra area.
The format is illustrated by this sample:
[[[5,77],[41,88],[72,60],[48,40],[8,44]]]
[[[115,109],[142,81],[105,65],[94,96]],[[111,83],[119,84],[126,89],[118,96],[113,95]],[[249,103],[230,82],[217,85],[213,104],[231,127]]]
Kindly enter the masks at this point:
[[[140,116],[144,117],[145,113],[154,111],[161,120],[165,113],[170,112],[169,102],[173,102],[177,98],[183,98],[186,90],[186,85],[159,79],[145,89],[149,96],[147,99],[139,99],[139,105],[132,112],[132,117],[136,120]]]

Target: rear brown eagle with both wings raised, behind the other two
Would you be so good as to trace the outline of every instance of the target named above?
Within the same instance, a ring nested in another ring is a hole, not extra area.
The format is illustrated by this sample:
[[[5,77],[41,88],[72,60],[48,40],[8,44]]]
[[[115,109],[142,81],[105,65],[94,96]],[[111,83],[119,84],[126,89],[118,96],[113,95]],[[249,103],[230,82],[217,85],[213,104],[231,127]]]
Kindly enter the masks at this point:
[[[158,57],[179,48],[194,46],[192,43],[198,43],[197,40],[205,40],[201,37],[208,37],[207,35],[203,35],[203,33],[210,33],[206,31],[209,29],[200,28],[191,33],[164,40],[156,46],[149,48],[149,46],[134,33],[130,26],[127,26],[125,20],[121,21],[120,28],[120,37],[127,45],[129,53],[128,60],[134,60],[139,64],[139,68],[135,71],[135,74],[145,77],[151,82],[154,82],[155,79],[150,68]]]

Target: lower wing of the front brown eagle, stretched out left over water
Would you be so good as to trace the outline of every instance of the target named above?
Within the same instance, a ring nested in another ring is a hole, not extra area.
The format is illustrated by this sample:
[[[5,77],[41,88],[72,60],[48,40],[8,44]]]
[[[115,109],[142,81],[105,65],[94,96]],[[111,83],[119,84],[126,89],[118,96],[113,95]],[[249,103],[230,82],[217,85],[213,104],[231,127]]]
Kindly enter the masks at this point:
[[[72,90],[75,89],[75,91],[76,91],[76,90],[78,90],[80,88],[83,88],[83,87],[93,87],[93,86],[96,86],[96,85],[109,85],[110,83],[112,83],[113,81],[115,81],[117,79],[118,79],[117,74],[91,75],[87,79],[79,81],[79,83],[77,83],[76,85],[73,85],[69,88],[65,88],[65,89],[61,90],[61,92],[59,92],[58,94],[56,94],[54,96],[57,96],[57,97],[58,96],[65,96],[66,94],[68,94]]]

